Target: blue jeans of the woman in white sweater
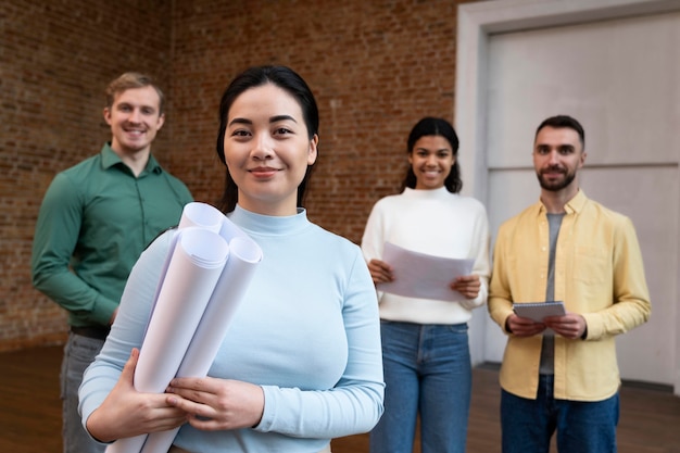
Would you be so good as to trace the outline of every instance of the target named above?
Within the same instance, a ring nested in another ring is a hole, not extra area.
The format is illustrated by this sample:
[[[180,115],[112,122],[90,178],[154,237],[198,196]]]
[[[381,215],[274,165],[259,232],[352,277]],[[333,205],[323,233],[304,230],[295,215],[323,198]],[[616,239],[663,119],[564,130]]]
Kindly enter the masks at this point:
[[[372,453],[411,453],[420,414],[423,453],[464,453],[471,365],[467,324],[380,323],[385,413]]]

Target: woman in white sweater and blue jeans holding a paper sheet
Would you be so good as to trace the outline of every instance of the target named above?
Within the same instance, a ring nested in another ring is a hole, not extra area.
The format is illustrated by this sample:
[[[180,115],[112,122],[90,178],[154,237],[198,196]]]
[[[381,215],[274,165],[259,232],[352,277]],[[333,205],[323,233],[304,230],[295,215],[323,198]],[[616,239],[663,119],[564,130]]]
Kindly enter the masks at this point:
[[[418,122],[407,141],[403,192],[379,200],[362,250],[375,284],[393,280],[386,242],[450,259],[474,259],[469,276],[453,278],[464,298],[450,302],[379,294],[385,414],[370,433],[372,453],[411,453],[420,416],[423,453],[465,452],[471,365],[467,323],[487,300],[489,224],[484,206],[458,194],[458,138],[445,119]]]

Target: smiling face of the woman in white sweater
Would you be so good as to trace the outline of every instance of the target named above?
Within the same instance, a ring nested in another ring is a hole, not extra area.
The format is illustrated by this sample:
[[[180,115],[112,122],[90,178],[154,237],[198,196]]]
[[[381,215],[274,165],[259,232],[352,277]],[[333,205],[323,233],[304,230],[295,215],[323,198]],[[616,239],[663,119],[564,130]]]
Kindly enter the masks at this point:
[[[455,156],[451,143],[442,136],[420,137],[408,154],[416,175],[416,190],[432,190],[444,186]]]

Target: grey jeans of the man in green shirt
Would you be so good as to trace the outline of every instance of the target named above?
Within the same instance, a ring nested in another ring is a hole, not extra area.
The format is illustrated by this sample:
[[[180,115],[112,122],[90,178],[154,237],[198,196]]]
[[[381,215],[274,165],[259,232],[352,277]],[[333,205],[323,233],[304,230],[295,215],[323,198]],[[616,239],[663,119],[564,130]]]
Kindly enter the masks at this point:
[[[64,347],[61,370],[62,437],[64,453],[103,453],[105,444],[98,443],[83,427],[78,414],[78,388],[85,368],[104,345],[102,340],[71,334]]]

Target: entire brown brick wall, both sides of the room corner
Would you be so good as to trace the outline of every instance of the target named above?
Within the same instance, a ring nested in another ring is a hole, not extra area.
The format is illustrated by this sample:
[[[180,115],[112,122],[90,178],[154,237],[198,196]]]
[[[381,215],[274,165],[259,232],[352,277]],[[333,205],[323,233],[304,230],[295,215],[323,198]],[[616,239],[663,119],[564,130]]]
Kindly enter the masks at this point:
[[[174,10],[172,5],[174,3]],[[217,105],[254,64],[285,64],[320,109],[310,217],[358,242],[396,192],[405,140],[425,115],[453,121],[458,1],[5,0],[0,4],[0,351],[63,341],[64,313],[33,289],[33,230],[55,172],[109,139],[103,89],[124,71],[168,95],[153,152],[214,202]]]

